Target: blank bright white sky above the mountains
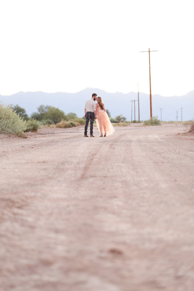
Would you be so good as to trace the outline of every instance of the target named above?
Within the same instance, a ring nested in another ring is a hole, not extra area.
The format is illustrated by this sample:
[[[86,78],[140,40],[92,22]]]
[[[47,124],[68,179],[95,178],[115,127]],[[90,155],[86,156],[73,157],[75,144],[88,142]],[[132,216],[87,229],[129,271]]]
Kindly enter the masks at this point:
[[[194,90],[193,0],[0,0],[0,94],[184,95]]]

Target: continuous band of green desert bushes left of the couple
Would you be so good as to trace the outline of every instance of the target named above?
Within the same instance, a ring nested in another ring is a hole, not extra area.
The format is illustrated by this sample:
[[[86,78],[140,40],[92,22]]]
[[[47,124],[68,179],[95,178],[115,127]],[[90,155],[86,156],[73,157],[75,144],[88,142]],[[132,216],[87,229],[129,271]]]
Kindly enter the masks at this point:
[[[59,108],[40,105],[37,112],[29,117],[26,110],[16,105],[0,104],[0,133],[24,136],[25,132],[39,128],[69,128],[85,124],[85,118],[78,118],[76,113],[65,114]]]

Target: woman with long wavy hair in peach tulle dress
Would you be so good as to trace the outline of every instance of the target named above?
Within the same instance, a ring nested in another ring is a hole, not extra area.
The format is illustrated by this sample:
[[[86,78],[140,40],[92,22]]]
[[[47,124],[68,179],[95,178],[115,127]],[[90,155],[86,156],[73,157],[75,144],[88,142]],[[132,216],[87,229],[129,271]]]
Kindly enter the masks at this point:
[[[96,124],[98,127],[98,130],[100,132],[100,137],[104,135],[109,136],[110,134],[113,134],[115,131],[113,125],[110,122],[110,119],[108,117],[108,114],[106,113],[106,110],[104,109],[104,103],[102,102],[101,97],[96,98]]]

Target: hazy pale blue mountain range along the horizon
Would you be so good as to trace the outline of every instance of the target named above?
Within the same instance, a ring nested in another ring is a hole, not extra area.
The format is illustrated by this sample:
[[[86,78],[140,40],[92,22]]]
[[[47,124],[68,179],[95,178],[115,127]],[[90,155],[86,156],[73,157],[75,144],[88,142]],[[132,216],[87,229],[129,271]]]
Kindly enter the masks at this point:
[[[98,88],[86,88],[77,93],[44,93],[44,92],[19,92],[10,96],[0,95],[0,101],[4,104],[19,104],[25,108],[30,116],[37,111],[41,104],[52,105],[63,110],[65,113],[74,112],[78,117],[84,116],[85,101],[91,98],[92,93],[101,96],[105,108],[110,111],[111,117],[123,114],[127,120],[131,120],[131,100],[137,100],[138,94],[135,92],[124,93],[107,93]],[[140,120],[147,120],[150,117],[150,95],[139,92]],[[178,121],[181,121],[181,107],[183,121],[194,118],[194,90],[184,96],[163,97],[152,95],[152,114],[158,116],[162,108],[162,120],[176,120],[176,110],[178,110]],[[133,102],[133,119],[134,119],[134,102]],[[138,120],[138,102],[136,101],[136,120]]]

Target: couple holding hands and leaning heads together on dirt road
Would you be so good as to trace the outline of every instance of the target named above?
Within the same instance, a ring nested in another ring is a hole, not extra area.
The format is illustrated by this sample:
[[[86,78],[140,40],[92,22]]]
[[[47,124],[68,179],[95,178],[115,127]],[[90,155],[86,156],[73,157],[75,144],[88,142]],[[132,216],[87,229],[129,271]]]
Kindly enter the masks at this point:
[[[97,103],[95,101],[97,101]],[[102,98],[99,96],[97,97],[96,93],[92,94],[92,98],[86,100],[84,112],[85,112],[84,116],[86,118],[84,137],[88,137],[87,127],[89,120],[90,120],[90,137],[94,137],[93,123],[95,119],[100,133],[100,137],[102,136],[106,137],[109,136],[110,134],[113,134],[115,129],[110,122],[108,114],[106,113]]]

